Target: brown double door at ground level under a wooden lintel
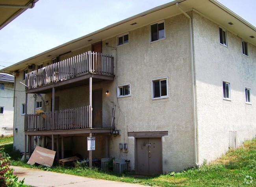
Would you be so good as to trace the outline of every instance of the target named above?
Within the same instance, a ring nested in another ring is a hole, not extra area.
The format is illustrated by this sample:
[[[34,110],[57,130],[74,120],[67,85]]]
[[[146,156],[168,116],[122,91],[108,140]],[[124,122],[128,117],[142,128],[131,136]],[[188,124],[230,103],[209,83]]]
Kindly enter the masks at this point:
[[[141,175],[162,173],[161,138],[136,138],[136,172]]]

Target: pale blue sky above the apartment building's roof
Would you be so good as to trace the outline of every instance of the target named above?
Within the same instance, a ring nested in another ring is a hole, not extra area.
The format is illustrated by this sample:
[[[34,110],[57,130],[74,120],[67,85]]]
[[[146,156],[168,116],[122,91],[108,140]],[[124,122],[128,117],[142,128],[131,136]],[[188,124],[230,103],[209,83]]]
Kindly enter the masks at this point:
[[[170,1],[39,0],[0,30],[0,69]],[[256,26],[255,0],[218,1]]]

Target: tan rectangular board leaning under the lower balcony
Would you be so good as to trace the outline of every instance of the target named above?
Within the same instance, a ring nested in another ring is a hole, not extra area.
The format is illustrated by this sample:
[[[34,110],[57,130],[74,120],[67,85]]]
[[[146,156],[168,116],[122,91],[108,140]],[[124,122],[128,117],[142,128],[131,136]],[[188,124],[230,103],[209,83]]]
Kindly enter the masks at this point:
[[[33,151],[28,164],[34,165],[35,163],[52,167],[56,151],[37,146]]]

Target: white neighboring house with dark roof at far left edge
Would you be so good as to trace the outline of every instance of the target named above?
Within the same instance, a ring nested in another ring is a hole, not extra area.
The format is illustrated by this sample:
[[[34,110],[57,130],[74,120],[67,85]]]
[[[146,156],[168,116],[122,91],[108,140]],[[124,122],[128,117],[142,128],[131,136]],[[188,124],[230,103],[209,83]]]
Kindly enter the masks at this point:
[[[0,73],[0,135],[13,134],[14,76]]]

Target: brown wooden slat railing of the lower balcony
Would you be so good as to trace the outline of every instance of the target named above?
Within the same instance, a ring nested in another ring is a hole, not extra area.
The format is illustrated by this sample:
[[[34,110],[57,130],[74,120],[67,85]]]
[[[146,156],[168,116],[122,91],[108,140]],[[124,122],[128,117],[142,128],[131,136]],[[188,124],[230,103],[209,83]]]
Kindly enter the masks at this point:
[[[45,112],[45,114],[27,114],[25,131],[69,130],[90,128],[91,106],[69,108]]]

